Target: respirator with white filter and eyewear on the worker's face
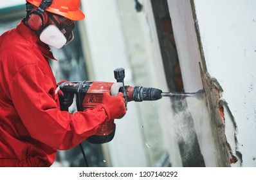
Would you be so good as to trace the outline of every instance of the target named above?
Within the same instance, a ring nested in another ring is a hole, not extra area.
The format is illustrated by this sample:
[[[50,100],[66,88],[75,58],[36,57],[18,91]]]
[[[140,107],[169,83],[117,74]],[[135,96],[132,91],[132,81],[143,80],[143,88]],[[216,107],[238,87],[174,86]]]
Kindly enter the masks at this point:
[[[73,30],[75,29],[75,23],[59,15],[56,15],[59,22],[52,14],[49,17],[55,24],[50,24],[42,30],[39,36],[40,40],[49,46],[60,49],[74,39]]]

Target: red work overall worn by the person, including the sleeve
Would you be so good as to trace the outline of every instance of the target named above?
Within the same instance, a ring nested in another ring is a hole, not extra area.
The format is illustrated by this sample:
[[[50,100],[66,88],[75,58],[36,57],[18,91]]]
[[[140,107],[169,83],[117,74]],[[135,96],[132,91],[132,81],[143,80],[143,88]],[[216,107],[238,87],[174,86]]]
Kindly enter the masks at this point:
[[[60,111],[49,46],[24,25],[0,36],[0,167],[50,167],[107,120],[102,105]]]

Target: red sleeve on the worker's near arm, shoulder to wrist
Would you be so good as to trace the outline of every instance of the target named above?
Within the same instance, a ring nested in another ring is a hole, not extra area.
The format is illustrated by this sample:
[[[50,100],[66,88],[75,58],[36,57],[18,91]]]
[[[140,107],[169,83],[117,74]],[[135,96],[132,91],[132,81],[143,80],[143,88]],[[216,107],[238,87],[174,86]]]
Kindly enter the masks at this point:
[[[55,149],[67,150],[95,134],[107,115],[101,105],[74,114],[60,111],[54,86],[48,75],[30,64],[12,78],[9,91],[32,138]]]

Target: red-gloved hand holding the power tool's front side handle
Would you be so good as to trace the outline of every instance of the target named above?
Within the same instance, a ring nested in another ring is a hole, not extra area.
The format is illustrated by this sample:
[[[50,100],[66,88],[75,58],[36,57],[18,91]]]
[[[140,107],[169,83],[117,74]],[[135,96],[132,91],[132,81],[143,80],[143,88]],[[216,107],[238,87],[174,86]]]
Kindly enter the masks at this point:
[[[126,114],[125,100],[123,93],[119,93],[117,96],[111,96],[110,91],[103,94],[102,97],[103,108],[109,120],[120,118]]]

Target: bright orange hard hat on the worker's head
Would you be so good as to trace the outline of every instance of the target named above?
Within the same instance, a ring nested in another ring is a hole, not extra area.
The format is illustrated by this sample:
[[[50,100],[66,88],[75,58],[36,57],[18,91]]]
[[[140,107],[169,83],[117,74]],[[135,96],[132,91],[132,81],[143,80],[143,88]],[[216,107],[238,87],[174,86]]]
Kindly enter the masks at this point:
[[[26,0],[28,3],[39,7],[42,0]],[[53,0],[51,6],[46,8],[46,11],[56,13],[73,21],[79,21],[84,19],[85,15],[80,10],[81,0]]]

